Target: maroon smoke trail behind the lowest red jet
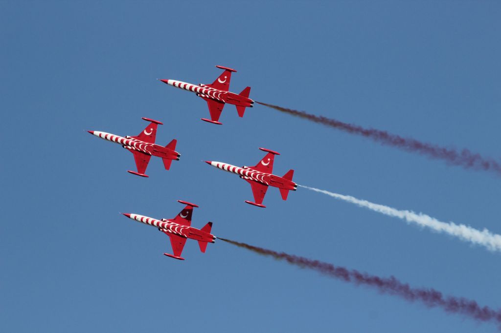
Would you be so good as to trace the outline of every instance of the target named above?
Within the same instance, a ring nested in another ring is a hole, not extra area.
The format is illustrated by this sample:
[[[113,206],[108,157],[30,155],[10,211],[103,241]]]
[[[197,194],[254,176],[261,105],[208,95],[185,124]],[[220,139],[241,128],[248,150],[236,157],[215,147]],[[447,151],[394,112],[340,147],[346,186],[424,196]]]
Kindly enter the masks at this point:
[[[379,277],[361,273],[355,269],[350,270],[345,267],[337,267],[328,262],[312,260],[285,252],[276,252],[230,239],[219,239],[261,255],[271,256],[277,260],[286,260],[301,268],[316,270],[322,274],[341,279],[345,282],[351,282],[357,285],[368,285],[378,289],[380,292],[396,295],[408,301],[421,301],[428,307],[441,307],[450,313],[460,313],[477,320],[494,321],[497,324],[501,324],[501,309],[496,311],[488,306],[480,307],[474,300],[463,297],[444,296],[440,291],[432,288],[411,288],[409,284],[400,282],[394,276],[387,278]]]

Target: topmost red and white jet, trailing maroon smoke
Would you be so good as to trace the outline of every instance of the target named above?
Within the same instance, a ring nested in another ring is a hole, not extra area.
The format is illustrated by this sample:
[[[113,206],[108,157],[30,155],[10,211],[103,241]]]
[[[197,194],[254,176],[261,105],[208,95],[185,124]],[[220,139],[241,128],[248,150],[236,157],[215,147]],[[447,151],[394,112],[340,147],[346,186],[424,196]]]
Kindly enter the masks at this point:
[[[249,98],[250,87],[246,87],[239,94],[229,92],[229,81],[231,79],[231,72],[236,71],[232,68],[216,66],[217,68],[224,69],[223,73],[216,78],[212,84],[191,84],[176,80],[160,80],[164,83],[176,86],[181,89],[193,91],[197,96],[202,97],[207,101],[209,107],[210,119],[201,118],[204,121],[222,125],[219,122],[224,103],[233,104],[236,106],[236,111],[239,117],[243,117],[245,107],[253,107],[254,100]]]

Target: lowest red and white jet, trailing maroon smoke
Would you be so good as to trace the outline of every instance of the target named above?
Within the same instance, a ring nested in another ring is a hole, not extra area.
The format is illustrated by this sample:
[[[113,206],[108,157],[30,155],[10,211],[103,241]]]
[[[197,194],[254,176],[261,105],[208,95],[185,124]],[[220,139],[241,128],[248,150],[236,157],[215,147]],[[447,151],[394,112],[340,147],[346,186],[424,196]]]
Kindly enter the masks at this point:
[[[172,245],[172,251],[174,254],[163,253],[164,255],[170,256],[171,258],[184,260],[181,257],[181,252],[183,251],[186,239],[191,238],[198,241],[198,246],[200,246],[200,251],[205,253],[207,248],[207,243],[215,242],[216,236],[210,233],[212,228],[212,222],[208,222],[201,229],[194,228],[191,225],[191,215],[193,213],[193,207],[198,207],[194,203],[189,203],[182,200],[177,200],[185,204],[186,206],[177,214],[173,219],[155,219],[138,214],[128,214],[122,213],[125,216],[132,218],[138,222],[153,225],[158,228],[158,230],[165,233],[170,238],[170,244]]]

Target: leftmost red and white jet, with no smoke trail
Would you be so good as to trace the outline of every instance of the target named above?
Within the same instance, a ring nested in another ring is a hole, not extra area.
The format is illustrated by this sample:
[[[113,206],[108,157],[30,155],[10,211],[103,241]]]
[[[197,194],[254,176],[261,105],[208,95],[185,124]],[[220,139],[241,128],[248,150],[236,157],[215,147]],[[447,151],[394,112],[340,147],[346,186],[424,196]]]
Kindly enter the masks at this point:
[[[179,160],[179,156],[181,156],[181,154],[174,150],[177,143],[176,139],[170,141],[165,147],[155,144],[157,126],[163,125],[163,123],[149,118],[142,119],[150,121],[150,124],[146,126],[146,128],[137,136],[123,137],[97,130],[88,130],[88,132],[105,140],[117,142],[118,144],[121,144],[122,147],[132,152],[134,154],[134,160],[136,161],[137,172],[131,170],[127,170],[127,172],[147,177],[144,172],[146,171],[151,155],[162,157],[163,165],[165,166],[165,169],[168,170],[172,160]]]

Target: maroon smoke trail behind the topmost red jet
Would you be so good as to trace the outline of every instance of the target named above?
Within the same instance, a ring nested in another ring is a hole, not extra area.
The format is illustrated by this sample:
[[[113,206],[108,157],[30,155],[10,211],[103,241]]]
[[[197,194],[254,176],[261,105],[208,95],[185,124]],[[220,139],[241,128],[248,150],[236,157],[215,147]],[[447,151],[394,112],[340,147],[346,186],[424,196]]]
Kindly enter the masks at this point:
[[[430,143],[420,142],[413,138],[401,137],[396,134],[388,133],[385,130],[364,128],[358,125],[342,122],[336,119],[310,114],[305,111],[293,110],[287,107],[263,103],[259,101],[256,102],[274,108],[276,110],[298,116],[300,118],[308,119],[314,122],[324,124],[326,126],[331,126],[337,129],[344,130],[348,133],[369,137],[374,141],[380,142],[382,144],[391,145],[407,151],[415,151],[422,155],[426,155],[432,158],[443,159],[447,163],[453,165],[460,165],[464,168],[471,168],[474,170],[493,171],[498,174],[501,174],[501,165],[498,162],[496,162],[492,158],[482,157],[480,156],[480,154],[473,153],[468,149],[462,149],[461,151],[457,151],[451,148],[444,148]]]

